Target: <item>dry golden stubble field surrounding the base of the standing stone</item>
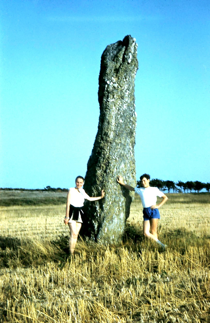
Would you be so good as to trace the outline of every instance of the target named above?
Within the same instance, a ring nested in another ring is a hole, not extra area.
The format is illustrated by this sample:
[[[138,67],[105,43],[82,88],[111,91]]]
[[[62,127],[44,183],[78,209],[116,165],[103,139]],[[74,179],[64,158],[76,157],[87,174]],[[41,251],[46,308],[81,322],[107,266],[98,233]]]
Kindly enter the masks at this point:
[[[121,245],[80,240],[73,258],[65,204],[1,206],[0,322],[210,322],[210,194],[166,195],[165,252],[142,235],[138,197]]]

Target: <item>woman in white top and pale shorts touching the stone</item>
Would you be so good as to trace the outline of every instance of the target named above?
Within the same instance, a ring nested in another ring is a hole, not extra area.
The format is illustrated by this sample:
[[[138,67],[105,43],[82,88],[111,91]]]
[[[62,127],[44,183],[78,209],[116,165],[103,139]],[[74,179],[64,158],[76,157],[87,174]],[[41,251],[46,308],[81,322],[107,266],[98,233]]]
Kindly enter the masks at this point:
[[[68,224],[70,229],[70,239],[69,239],[69,250],[72,255],[75,250],[75,245],[79,231],[82,226],[83,219],[83,206],[84,201],[98,201],[103,199],[105,193],[104,190],[101,191],[101,196],[90,197],[85,193],[85,190],[82,188],[84,184],[84,178],[82,176],[77,176],[75,179],[75,187],[72,187],[68,190],[67,202],[66,202],[66,215],[64,223]]]

